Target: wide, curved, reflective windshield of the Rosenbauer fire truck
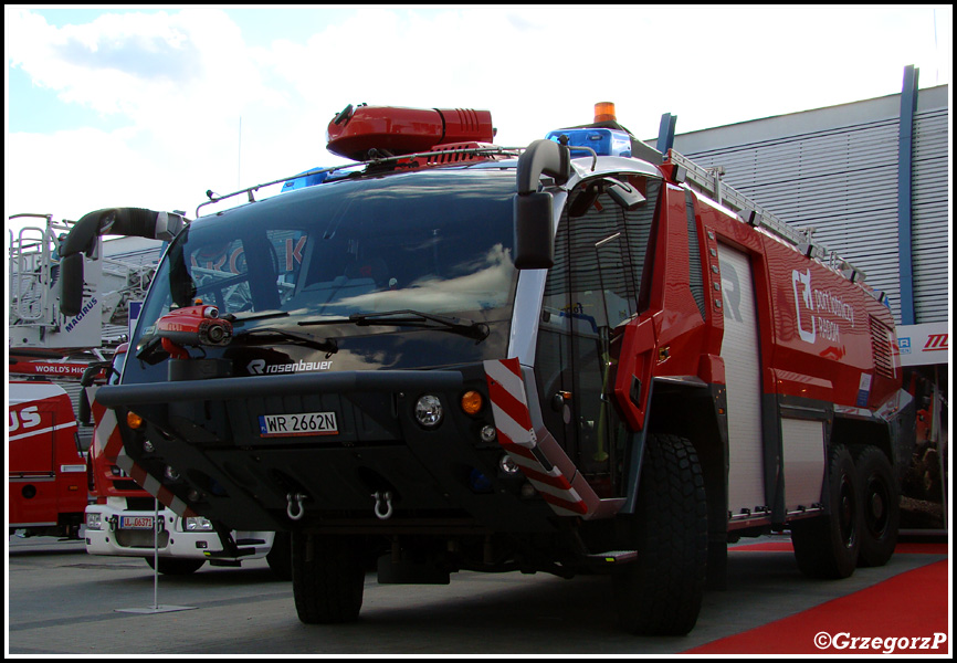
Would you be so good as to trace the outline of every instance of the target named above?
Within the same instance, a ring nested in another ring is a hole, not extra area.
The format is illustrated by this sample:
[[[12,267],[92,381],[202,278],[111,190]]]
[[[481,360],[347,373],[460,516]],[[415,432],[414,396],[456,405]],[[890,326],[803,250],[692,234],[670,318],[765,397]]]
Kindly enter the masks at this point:
[[[412,172],[318,185],[201,218],[158,269],[134,347],[171,307],[197,299],[234,316],[238,335],[381,334],[368,320],[336,322],[387,325],[390,312],[507,324],[517,281],[514,182],[514,170],[501,168]]]

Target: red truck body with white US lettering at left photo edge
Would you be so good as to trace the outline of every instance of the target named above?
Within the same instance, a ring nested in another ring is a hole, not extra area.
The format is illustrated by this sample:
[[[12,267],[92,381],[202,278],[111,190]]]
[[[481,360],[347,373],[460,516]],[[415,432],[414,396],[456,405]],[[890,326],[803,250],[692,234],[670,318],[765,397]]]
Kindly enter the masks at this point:
[[[48,381],[8,386],[9,529],[78,538],[86,464],[70,397]]]

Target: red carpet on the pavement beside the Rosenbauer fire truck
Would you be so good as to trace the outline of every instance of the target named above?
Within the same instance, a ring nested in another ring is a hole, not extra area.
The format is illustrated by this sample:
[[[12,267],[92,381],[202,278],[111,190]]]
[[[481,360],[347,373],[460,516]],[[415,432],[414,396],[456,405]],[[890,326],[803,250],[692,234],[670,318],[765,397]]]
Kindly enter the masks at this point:
[[[791,548],[789,543],[781,541],[734,549],[747,551]],[[897,552],[946,554],[947,546],[902,544],[897,547]],[[683,653],[871,656],[883,653],[949,654],[949,587],[945,559],[894,576],[804,612],[715,640]],[[867,639],[866,642],[864,639]],[[822,646],[817,646],[816,643]]]

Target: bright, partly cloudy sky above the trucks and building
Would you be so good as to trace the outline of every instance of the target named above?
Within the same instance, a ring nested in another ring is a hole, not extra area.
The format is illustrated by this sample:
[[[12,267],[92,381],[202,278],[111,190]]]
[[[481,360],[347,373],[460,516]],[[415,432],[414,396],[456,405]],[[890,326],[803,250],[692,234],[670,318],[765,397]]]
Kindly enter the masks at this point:
[[[949,85],[951,24],[950,6],[6,6],[4,218],[193,218],[208,189],[346,162],[325,141],[348,104],[487,109],[513,147],[596,102],[649,138],[663,113],[682,134],[896,94],[912,64]]]

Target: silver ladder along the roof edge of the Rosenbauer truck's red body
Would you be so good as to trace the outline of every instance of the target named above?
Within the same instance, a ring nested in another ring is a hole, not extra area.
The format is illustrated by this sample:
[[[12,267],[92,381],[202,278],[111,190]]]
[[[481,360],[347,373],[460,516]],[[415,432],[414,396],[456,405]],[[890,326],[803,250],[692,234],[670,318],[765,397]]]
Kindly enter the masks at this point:
[[[798,251],[811,259],[818,259],[830,269],[843,275],[849,281],[863,283],[866,274],[842,259],[834,251],[828,250],[811,240],[810,232],[796,230],[781,221],[747,196],[722,181],[725,173],[723,167],[703,168],[673,149],[664,157],[665,164],[673,164],[684,169],[684,177],[679,180],[687,181],[703,193],[712,197],[715,202],[738,213],[738,218],[755,228],[764,228],[770,234],[792,244]]]

